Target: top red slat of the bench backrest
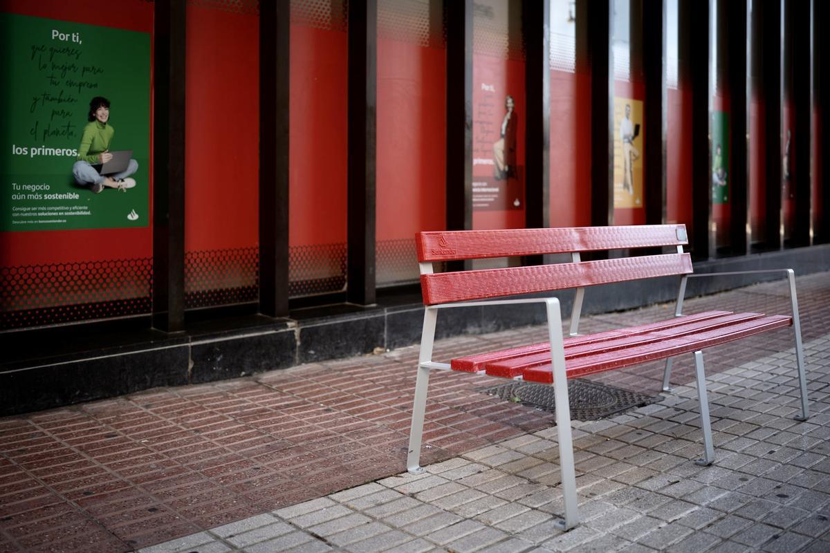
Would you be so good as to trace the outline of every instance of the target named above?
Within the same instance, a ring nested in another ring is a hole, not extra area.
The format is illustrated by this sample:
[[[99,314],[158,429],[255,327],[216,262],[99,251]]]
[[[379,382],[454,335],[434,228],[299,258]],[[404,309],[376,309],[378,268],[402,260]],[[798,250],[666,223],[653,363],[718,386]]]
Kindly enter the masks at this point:
[[[475,260],[515,255],[686,245],[684,225],[584,226],[510,230],[438,230],[415,238],[418,260]]]

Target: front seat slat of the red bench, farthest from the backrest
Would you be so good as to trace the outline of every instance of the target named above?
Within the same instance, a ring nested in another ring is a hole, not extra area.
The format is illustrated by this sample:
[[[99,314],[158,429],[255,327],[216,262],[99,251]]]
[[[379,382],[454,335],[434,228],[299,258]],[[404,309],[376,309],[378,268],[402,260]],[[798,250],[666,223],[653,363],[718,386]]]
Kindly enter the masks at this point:
[[[630,349],[603,352],[597,355],[579,357],[569,361],[566,360],[566,371],[568,378],[578,378],[579,376],[587,376],[597,372],[622,369],[626,366],[639,365],[647,361],[657,361],[659,359],[666,359],[666,357],[674,357],[681,353],[696,352],[705,347],[718,346],[726,342],[732,342],[743,337],[767,332],[776,328],[789,327],[792,323],[793,318],[791,317],[772,315],[745,323],[730,325],[729,327],[701,332],[700,334],[671,338]],[[522,377],[525,381],[530,382],[542,382],[544,384],[553,382],[553,372],[549,364],[527,368],[523,371]]]

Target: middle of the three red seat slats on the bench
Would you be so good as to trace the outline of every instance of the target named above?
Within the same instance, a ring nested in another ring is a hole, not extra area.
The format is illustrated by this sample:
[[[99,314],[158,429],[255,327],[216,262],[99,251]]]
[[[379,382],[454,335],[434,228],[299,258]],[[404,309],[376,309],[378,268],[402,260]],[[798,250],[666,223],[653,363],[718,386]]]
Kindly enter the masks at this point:
[[[565,344],[565,360],[588,357],[603,352],[614,352],[616,350],[631,349],[632,347],[645,346],[652,342],[662,342],[666,339],[688,336],[693,333],[707,332],[715,328],[734,326],[737,323],[744,323],[752,319],[761,318],[760,313],[731,313],[729,315],[710,318],[703,321],[692,321],[677,325],[671,328],[664,328],[652,332],[637,333],[623,337],[614,337],[603,342],[588,344],[569,345]],[[489,376],[501,376],[514,378],[520,376],[522,371],[531,366],[549,365],[550,352],[537,353],[535,355],[516,357],[505,361],[491,361],[486,364],[486,373]]]

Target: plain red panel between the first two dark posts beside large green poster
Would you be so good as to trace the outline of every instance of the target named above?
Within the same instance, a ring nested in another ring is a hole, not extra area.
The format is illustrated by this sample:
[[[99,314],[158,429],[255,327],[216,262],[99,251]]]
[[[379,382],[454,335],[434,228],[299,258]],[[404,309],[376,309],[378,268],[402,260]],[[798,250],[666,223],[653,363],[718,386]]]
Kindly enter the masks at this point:
[[[259,18],[188,5],[186,251],[259,242]]]

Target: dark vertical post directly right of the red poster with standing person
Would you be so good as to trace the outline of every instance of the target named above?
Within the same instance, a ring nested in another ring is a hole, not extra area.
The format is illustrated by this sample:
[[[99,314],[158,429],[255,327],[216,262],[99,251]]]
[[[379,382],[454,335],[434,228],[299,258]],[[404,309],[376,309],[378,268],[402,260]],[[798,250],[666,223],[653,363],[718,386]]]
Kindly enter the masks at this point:
[[[550,0],[522,2],[525,35],[525,226],[550,226]],[[525,264],[539,264],[533,255]]]

